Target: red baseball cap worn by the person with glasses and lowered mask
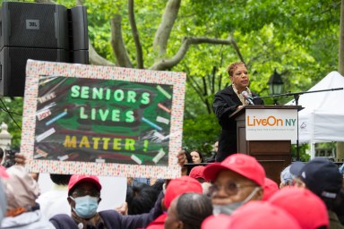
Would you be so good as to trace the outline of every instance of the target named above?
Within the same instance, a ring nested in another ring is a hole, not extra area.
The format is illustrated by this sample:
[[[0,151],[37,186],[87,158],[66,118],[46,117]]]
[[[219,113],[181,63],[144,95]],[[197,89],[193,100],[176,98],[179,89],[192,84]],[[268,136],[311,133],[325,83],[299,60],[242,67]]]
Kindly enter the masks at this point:
[[[214,181],[219,172],[225,169],[241,174],[260,186],[264,186],[264,168],[254,157],[245,154],[233,154],[220,163],[207,165],[204,169],[205,179],[207,181]]]

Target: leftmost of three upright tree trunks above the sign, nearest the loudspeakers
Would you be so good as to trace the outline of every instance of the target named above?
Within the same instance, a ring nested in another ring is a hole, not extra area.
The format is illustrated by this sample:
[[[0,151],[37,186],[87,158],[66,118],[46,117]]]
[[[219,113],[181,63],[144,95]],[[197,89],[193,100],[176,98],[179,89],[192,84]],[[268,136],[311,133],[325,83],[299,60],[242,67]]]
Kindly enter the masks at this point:
[[[117,64],[121,67],[132,68],[133,64],[125,49],[125,42],[122,37],[122,16],[115,14],[111,19],[111,47],[116,55]]]

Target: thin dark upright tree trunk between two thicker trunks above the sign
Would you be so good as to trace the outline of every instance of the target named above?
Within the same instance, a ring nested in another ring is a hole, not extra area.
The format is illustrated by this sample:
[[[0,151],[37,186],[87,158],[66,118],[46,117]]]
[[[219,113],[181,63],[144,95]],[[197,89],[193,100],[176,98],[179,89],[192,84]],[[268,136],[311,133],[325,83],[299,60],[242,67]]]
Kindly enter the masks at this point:
[[[133,42],[135,43],[136,47],[136,61],[137,61],[137,68],[143,69],[143,55],[142,55],[142,45],[140,42],[139,31],[136,27],[135,22],[135,14],[133,13],[133,0],[128,0],[128,13],[129,13],[129,22],[132,28],[133,33]]]

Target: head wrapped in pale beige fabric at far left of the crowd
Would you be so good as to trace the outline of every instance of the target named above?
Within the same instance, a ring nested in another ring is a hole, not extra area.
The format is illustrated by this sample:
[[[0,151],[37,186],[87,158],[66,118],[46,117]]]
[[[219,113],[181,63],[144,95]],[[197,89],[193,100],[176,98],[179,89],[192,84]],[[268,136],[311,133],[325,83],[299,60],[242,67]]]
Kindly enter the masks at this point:
[[[13,165],[6,172],[9,175],[4,180],[7,211],[35,207],[36,199],[39,197],[39,183],[26,172],[22,165]]]

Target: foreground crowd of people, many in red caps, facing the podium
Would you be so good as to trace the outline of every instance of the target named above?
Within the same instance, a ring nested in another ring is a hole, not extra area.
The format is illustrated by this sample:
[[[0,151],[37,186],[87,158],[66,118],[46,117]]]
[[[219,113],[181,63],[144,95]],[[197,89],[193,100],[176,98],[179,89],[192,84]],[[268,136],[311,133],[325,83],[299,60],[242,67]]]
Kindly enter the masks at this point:
[[[185,164],[185,151],[177,160]],[[1,228],[344,228],[343,175],[323,157],[292,163],[279,185],[254,157],[232,154],[175,179],[128,184],[125,208],[103,211],[106,183],[95,175],[51,174],[56,186],[42,195],[22,163],[0,175]]]

